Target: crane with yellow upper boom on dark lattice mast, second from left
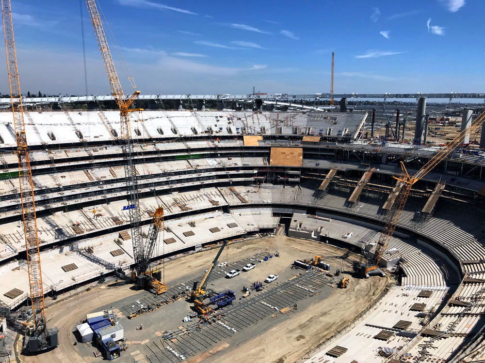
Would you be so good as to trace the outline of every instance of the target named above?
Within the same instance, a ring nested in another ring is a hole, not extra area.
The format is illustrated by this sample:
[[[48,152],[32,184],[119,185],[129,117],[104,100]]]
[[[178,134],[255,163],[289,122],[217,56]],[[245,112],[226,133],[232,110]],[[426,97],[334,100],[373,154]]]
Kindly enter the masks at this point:
[[[126,207],[129,212],[131,241],[133,243],[133,257],[135,259],[135,269],[131,277],[136,280],[138,284],[141,284],[143,283],[144,279],[138,279],[137,276],[146,272],[155,241],[147,240],[146,243],[143,242],[140,204],[138,200],[138,181],[136,178],[135,165],[133,163],[133,141],[131,138],[129,116],[135,111],[141,111],[141,109],[130,108],[140,94],[140,91],[136,90],[133,78],[130,77],[130,83],[135,91],[130,97],[125,97],[120,80],[116,73],[116,69],[114,67],[113,57],[111,56],[108,40],[106,39],[101,17],[99,16],[99,12],[97,10],[96,1],[86,0],[86,6],[88,8],[89,17],[91,18],[91,23],[93,24],[93,29],[96,34],[101,57],[106,68],[106,74],[108,75],[108,80],[110,82],[111,94],[113,95],[114,101],[120,110],[121,133],[120,136],[117,137],[117,141],[121,145],[124,158],[125,181],[129,203]],[[162,287],[163,284],[160,281],[158,283],[160,284],[159,286]],[[143,287],[140,285],[137,286]]]

